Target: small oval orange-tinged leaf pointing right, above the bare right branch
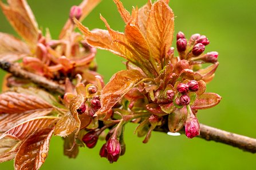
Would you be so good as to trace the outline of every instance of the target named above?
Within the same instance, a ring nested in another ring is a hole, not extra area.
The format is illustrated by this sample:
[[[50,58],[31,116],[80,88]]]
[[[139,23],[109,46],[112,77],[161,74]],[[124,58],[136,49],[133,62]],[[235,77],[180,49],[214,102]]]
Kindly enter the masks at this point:
[[[215,93],[206,92],[195,100],[195,104],[191,106],[192,109],[207,109],[219,104],[222,98]]]

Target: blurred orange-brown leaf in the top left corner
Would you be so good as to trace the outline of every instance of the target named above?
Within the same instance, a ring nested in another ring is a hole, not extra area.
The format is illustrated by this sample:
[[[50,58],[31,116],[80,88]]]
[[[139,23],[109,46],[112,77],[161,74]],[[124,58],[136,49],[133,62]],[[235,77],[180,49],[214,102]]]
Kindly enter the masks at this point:
[[[25,0],[8,0],[9,5],[0,1],[0,6],[17,33],[31,46],[34,46],[38,38],[37,22]]]

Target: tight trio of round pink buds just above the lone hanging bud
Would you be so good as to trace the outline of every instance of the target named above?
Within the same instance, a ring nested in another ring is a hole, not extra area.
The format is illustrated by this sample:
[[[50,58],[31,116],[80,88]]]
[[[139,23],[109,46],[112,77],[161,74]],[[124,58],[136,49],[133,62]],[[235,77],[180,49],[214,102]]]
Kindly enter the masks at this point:
[[[175,103],[180,106],[187,106],[188,104],[190,104],[190,97],[188,96],[188,92],[195,92],[198,91],[198,89],[199,85],[198,82],[196,82],[195,80],[190,80],[190,82],[186,84],[179,83],[177,86],[177,91],[182,95],[175,99]]]

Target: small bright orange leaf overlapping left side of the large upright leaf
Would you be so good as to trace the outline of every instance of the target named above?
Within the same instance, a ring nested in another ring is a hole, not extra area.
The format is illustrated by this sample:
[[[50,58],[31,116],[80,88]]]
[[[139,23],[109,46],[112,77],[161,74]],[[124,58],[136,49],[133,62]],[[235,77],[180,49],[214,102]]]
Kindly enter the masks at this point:
[[[128,24],[125,27],[124,34],[132,47],[145,59],[149,59],[149,56],[151,56],[148,51],[149,47],[139,28],[135,25]]]

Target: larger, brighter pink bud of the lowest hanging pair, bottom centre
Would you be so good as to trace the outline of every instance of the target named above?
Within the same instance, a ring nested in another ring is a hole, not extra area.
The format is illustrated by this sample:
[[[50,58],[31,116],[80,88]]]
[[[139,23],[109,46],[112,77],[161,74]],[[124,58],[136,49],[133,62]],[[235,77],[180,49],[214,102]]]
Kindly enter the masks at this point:
[[[117,161],[121,153],[121,145],[116,137],[112,137],[107,143],[108,160],[110,163]]]

